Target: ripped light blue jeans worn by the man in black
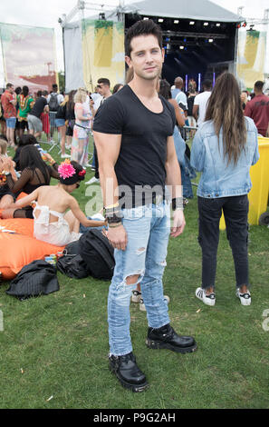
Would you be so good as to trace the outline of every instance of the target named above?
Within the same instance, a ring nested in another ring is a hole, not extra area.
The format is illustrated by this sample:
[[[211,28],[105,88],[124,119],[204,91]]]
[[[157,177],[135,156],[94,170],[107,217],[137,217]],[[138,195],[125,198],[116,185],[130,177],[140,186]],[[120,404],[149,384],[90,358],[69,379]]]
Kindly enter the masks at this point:
[[[170,322],[162,285],[170,233],[169,205],[147,204],[123,209],[122,214],[128,244],[125,251],[115,249],[116,265],[108,301],[110,353],[115,356],[132,351],[130,296],[138,283],[149,326],[160,328]],[[127,284],[132,275],[139,275],[139,280]]]

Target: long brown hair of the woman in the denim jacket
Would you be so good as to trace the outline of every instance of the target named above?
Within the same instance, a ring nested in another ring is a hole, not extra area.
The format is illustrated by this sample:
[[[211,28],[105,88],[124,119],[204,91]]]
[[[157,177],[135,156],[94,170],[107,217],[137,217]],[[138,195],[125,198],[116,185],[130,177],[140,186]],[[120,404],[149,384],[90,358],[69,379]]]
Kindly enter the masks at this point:
[[[218,138],[222,129],[224,154],[228,164],[232,160],[237,164],[242,150],[245,149],[246,126],[240,89],[233,74],[224,73],[216,79],[208,101],[207,120],[213,120]]]

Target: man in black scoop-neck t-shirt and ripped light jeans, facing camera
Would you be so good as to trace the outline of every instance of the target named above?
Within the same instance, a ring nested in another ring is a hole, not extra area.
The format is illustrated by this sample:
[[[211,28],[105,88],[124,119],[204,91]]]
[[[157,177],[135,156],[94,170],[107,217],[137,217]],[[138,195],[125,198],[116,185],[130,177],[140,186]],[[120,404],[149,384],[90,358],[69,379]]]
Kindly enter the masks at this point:
[[[168,238],[185,227],[172,136],[175,112],[156,91],[163,61],[159,26],[151,20],[137,22],[126,36],[126,62],[134,77],[101,105],[93,124],[107,236],[116,262],[108,301],[110,369],[133,392],[149,386],[130,341],[130,296],[138,283],[148,315],[148,347],[177,353],[197,349],[192,337],[179,336],[170,326],[163,295]],[[166,185],[174,209],[172,230]]]

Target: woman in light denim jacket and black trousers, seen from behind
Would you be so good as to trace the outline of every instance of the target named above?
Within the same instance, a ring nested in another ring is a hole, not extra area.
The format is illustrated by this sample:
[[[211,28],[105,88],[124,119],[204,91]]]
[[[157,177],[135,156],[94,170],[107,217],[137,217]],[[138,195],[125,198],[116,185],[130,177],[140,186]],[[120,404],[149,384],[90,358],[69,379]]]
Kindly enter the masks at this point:
[[[235,262],[235,294],[243,305],[251,303],[247,194],[252,186],[249,170],[258,159],[257,129],[252,119],[244,117],[239,86],[233,74],[221,74],[208,102],[206,121],[198,129],[191,150],[191,165],[202,173],[197,188],[202,287],[197,288],[196,296],[207,305],[216,303],[216,253],[222,210]]]

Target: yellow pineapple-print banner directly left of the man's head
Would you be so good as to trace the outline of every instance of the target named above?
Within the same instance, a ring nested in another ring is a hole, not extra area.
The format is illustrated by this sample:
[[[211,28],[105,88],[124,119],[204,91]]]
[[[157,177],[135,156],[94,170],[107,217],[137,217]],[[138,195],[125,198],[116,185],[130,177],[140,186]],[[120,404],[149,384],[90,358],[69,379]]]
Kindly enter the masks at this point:
[[[110,79],[111,87],[124,83],[124,25],[113,21],[82,20],[83,77],[93,91],[101,77]]]

